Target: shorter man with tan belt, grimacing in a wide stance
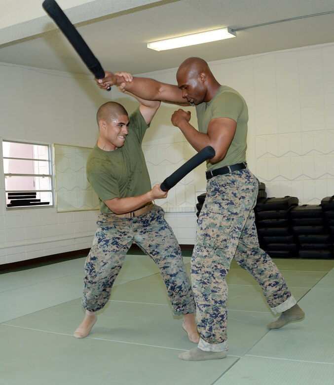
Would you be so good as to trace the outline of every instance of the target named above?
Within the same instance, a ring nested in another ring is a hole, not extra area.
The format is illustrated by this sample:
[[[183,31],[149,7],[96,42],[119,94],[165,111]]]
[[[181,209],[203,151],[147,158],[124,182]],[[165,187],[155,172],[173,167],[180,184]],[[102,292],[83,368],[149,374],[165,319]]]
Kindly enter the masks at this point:
[[[137,98],[138,99],[138,98]],[[198,343],[195,303],[181,249],[154,199],[165,198],[160,184],[151,189],[142,140],[160,102],[140,100],[128,116],[115,102],[97,112],[99,135],[87,160],[87,178],[97,193],[101,214],[93,246],[85,263],[82,305],[85,317],[75,338],[88,336],[96,312],[111,296],[111,287],[133,242],[160,269],[173,313],[183,315],[183,328],[190,341]]]

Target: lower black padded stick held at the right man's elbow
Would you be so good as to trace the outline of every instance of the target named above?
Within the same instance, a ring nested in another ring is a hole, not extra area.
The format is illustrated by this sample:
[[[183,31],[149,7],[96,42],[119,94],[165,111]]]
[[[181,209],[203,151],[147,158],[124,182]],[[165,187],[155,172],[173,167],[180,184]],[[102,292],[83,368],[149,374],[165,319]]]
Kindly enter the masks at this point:
[[[215,156],[215,150],[211,147],[204,147],[199,153],[186,161],[181,167],[167,177],[160,185],[162,191],[168,191],[174,187],[182,178],[186,176],[191,170],[200,165],[204,160],[210,159]]]

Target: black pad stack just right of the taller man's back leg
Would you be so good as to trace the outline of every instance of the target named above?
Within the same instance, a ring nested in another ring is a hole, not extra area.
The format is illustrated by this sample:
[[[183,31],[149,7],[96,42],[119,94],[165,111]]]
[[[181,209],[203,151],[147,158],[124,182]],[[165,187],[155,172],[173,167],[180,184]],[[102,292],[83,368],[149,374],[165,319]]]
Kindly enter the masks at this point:
[[[297,206],[298,202],[295,196],[258,199],[255,223],[260,247],[271,257],[296,258],[298,254],[297,239],[289,215],[291,208]]]

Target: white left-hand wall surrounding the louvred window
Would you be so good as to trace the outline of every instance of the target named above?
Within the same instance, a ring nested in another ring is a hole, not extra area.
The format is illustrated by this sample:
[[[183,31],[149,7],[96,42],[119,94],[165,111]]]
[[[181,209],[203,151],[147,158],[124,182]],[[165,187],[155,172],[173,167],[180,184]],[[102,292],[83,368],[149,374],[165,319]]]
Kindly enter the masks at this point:
[[[108,95],[92,77],[0,63],[0,137],[92,147],[95,115]],[[96,211],[57,213],[55,208],[6,210],[0,178],[0,264],[91,246]]]

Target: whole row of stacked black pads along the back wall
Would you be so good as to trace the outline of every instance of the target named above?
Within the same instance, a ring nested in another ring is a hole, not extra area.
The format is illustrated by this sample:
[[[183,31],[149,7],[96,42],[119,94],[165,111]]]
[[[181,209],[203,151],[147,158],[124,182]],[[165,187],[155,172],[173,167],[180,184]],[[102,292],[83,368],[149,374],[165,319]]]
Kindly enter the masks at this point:
[[[205,196],[197,196],[197,217]],[[254,212],[260,247],[276,258],[333,258],[334,195],[319,205],[298,203],[295,196],[267,198],[265,185],[259,182]]]

